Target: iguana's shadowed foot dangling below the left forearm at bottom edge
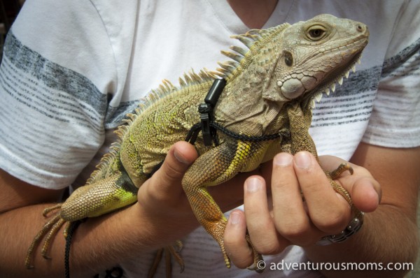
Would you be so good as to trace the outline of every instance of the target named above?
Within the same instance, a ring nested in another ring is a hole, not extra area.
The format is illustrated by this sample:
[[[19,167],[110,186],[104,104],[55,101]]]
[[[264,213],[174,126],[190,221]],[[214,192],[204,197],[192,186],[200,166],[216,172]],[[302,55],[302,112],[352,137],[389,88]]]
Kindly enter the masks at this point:
[[[152,278],[156,274],[156,270],[158,269],[158,265],[160,261],[162,260],[162,255],[165,251],[165,268],[166,268],[166,277],[170,278],[172,277],[172,257],[174,257],[175,261],[179,264],[181,267],[181,272],[183,272],[185,268],[185,264],[183,262],[183,259],[181,258],[181,255],[179,252],[182,249],[182,242],[181,240],[177,240],[174,245],[170,245],[168,247],[159,249],[158,252],[155,255],[155,259],[153,260],[153,263],[151,265],[151,268],[148,271],[148,278]]]

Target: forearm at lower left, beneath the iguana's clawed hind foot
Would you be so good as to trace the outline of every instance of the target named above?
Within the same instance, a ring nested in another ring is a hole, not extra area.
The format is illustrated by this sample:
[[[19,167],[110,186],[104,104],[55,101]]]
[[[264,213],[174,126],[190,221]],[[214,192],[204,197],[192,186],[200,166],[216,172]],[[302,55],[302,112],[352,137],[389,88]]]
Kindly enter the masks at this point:
[[[41,256],[40,247],[34,256],[35,268],[27,270],[24,264],[31,240],[45,224],[43,208],[49,206],[22,207],[0,215],[1,277],[63,277],[65,238],[62,231],[50,244],[48,255],[51,259],[45,260]],[[129,254],[158,248],[159,235],[152,237],[147,224],[141,224],[141,216],[137,214],[139,212],[133,206],[81,224],[71,245],[71,274],[92,277]]]

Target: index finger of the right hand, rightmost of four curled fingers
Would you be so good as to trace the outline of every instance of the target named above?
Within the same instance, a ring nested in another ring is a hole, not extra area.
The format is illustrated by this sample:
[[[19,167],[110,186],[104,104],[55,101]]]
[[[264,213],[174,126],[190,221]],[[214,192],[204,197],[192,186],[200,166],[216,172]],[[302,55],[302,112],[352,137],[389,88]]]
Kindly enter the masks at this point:
[[[349,203],[332,189],[315,157],[297,152],[294,168],[314,225],[328,234],[342,231],[351,219]]]

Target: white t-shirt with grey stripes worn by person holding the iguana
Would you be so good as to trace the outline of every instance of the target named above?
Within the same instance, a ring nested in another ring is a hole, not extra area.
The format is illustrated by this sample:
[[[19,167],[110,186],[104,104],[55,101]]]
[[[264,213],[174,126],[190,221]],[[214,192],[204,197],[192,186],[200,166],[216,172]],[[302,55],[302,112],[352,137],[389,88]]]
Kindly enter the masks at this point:
[[[348,160],[360,142],[420,145],[419,10],[419,1],[279,1],[265,27],[330,13],[370,29],[356,73],[316,103],[310,133],[319,154]],[[141,97],[190,68],[216,68],[228,59],[220,50],[241,45],[230,36],[247,30],[224,0],[27,0],[0,67],[0,168],[48,189],[82,185]],[[286,269],[307,261],[300,247],[265,256],[257,275],[226,269],[202,228],[183,243],[186,270],[174,265],[174,277],[320,276]],[[126,277],[142,277],[152,259],[139,250],[116,263]]]

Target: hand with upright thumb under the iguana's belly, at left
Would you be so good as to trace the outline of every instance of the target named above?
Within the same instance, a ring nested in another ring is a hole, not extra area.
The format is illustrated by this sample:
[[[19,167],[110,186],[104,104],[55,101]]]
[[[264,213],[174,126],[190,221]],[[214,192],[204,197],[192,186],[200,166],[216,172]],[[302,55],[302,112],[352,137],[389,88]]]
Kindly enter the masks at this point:
[[[197,159],[197,152],[188,142],[176,142],[169,150],[160,169],[139,188],[138,202],[130,207],[147,227],[149,246],[165,247],[184,237],[199,226],[181,186],[183,175]],[[228,211],[243,203],[243,184],[248,175],[237,175],[209,193],[221,210]]]

